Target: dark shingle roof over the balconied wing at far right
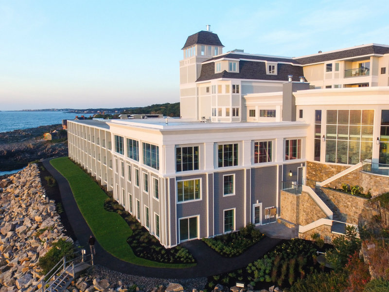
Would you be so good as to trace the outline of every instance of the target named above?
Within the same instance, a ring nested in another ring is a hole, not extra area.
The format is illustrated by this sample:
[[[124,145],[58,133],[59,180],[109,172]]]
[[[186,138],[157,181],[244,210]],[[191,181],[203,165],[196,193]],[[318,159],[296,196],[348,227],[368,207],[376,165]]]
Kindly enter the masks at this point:
[[[295,57],[294,59],[298,61],[301,65],[313,64],[326,62],[331,60],[343,59],[343,58],[352,58],[363,55],[371,54],[389,54],[388,47],[381,47],[377,45],[371,45],[361,48],[349,49],[333,53],[321,53],[318,55],[308,56],[308,57]]]

